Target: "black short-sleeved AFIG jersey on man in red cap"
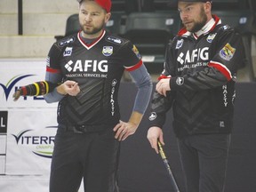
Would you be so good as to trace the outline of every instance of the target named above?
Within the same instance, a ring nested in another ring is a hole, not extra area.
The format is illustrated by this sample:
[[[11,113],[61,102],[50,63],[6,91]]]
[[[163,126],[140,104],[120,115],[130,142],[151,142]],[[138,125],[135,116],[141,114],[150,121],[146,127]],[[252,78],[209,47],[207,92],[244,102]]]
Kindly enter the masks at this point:
[[[92,44],[80,33],[55,44],[48,55],[48,73],[61,74],[63,81],[76,81],[81,92],[59,102],[58,123],[65,125],[116,124],[120,113],[118,88],[124,69],[140,68],[136,47],[124,38],[103,31]]]

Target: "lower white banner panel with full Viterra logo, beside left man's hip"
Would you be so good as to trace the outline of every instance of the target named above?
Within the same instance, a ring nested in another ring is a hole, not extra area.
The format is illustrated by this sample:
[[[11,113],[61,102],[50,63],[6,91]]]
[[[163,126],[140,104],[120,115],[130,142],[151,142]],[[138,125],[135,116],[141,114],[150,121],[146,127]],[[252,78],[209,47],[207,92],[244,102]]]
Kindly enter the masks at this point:
[[[8,111],[6,174],[44,175],[50,172],[56,118],[54,108]]]

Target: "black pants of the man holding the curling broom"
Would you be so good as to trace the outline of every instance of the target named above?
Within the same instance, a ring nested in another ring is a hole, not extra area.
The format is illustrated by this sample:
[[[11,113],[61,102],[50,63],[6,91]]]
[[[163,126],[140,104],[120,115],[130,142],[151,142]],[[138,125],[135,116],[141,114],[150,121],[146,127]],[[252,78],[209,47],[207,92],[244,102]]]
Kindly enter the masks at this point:
[[[186,192],[223,192],[230,134],[202,134],[178,139]]]

